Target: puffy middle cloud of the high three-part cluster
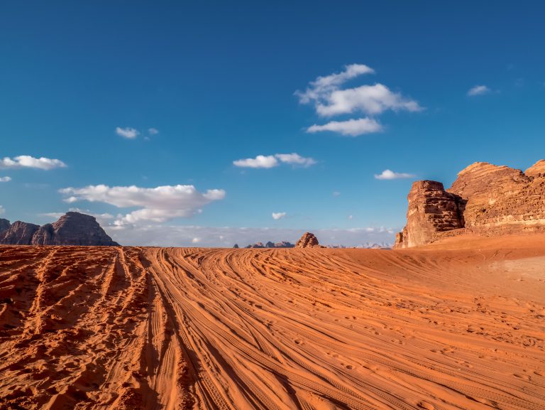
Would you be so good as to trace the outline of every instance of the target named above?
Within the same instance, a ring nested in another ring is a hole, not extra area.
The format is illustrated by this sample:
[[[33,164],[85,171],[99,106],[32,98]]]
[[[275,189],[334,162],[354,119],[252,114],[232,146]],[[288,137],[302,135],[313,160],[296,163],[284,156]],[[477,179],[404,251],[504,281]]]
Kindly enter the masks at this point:
[[[324,99],[324,102],[316,104],[316,112],[322,117],[353,112],[377,115],[387,109],[416,112],[421,111],[422,107],[418,102],[407,99],[400,93],[391,92],[388,87],[382,84],[335,90]]]

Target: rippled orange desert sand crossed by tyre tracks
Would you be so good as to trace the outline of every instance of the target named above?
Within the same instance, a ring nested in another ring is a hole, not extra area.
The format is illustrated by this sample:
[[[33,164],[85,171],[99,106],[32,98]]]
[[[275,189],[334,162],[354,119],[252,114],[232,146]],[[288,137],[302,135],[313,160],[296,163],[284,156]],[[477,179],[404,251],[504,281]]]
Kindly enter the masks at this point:
[[[545,409],[545,235],[0,247],[0,409]]]

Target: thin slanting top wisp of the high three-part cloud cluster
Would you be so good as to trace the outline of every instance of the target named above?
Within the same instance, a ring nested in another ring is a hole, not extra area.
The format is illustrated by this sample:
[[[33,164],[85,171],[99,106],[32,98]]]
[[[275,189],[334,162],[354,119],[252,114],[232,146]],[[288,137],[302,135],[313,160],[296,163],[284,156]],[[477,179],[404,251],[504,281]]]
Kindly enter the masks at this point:
[[[302,104],[308,104],[312,101],[318,101],[337,90],[340,85],[343,85],[348,80],[358,77],[363,74],[373,74],[375,70],[368,67],[365,64],[351,64],[346,65],[343,72],[338,74],[326,75],[325,77],[318,77],[316,80],[310,83],[307,90],[304,92],[296,91],[295,95],[299,97],[299,102]]]

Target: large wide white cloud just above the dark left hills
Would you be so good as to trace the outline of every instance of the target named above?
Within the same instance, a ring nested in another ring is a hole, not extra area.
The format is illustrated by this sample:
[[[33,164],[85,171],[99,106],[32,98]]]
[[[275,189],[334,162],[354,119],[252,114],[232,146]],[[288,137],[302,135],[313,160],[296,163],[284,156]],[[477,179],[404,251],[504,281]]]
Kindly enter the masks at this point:
[[[64,188],[60,193],[65,202],[79,200],[107,203],[116,207],[139,207],[126,215],[118,215],[115,225],[137,224],[143,221],[165,222],[178,217],[192,217],[201,207],[225,198],[221,189],[200,193],[193,185],[164,185],[157,188],[89,185],[84,188]]]

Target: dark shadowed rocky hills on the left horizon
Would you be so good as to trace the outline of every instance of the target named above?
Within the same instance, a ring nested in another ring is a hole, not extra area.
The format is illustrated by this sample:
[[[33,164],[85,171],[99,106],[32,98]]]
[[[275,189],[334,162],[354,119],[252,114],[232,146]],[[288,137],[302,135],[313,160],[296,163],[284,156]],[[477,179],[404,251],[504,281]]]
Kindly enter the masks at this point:
[[[97,220],[79,212],[67,212],[53,224],[34,225],[0,220],[0,244],[119,246]]]

